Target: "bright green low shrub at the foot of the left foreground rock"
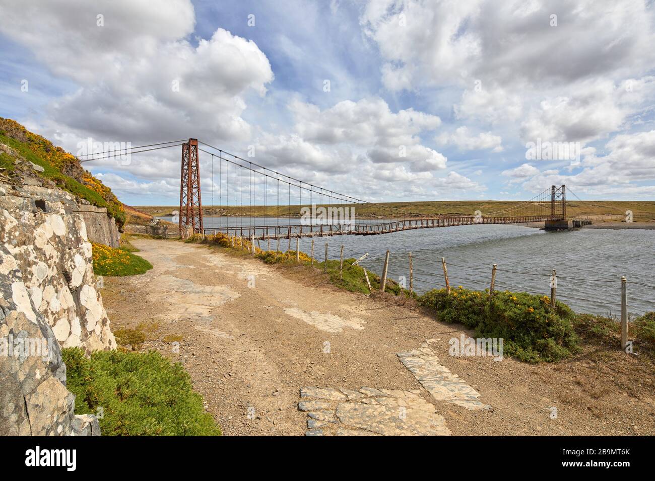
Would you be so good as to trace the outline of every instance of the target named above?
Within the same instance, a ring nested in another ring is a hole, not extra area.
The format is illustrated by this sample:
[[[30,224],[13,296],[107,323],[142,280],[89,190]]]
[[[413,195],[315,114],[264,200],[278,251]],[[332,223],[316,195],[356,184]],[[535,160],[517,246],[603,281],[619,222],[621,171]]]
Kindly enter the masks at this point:
[[[102,412],[103,436],[219,436],[179,363],[157,353],[62,349],[75,414]],[[101,410],[102,408],[102,410]]]

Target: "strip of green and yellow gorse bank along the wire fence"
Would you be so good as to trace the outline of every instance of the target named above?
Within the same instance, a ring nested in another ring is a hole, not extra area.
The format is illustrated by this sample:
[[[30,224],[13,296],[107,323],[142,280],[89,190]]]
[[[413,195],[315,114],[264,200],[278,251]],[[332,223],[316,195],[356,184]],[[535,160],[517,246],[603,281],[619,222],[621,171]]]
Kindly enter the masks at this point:
[[[187,242],[219,245],[252,257],[250,241],[224,234],[206,238],[194,236]],[[307,253],[265,251],[256,245],[254,257],[267,264],[304,268],[314,276],[325,276],[331,284],[346,291],[379,292],[380,276],[367,270],[369,288],[364,268],[352,265],[354,258],[345,258],[342,270],[339,260],[328,259],[326,266],[325,262],[312,262]],[[399,298],[410,297],[409,291],[392,279],[387,279],[385,292]],[[460,286],[450,293],[445,289],[433,289],[421,296],[413,293],[411,298],[439,321],[472,329],[478,338],[504,339],[505,353],[528,363],[561,361],[592,344],[620,349],[620,323],[616,319],[577,314],[559,301],[552,307],[548,296],[496,291],[490,298],[488,290],[471,291]],[[655,313],[633,319],[629,334],[635,351],[652,357],[655,353]]]

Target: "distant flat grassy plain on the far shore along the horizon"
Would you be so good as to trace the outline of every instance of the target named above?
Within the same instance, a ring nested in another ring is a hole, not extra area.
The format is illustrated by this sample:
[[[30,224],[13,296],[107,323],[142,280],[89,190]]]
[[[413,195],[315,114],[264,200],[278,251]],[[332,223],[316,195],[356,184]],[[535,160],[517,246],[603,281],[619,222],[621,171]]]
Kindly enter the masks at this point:
[[[479,210],[482,215],[516,207],[521,202],[512,200],[459,200],[438,202],[385,202],[380,204],[324,204],[324,207],[354,207],[356,217],[360,219],[393,219],[406,216],[426,215],[475,215]],[[301,207],[307,205],[203,205],[204,215],[242,216],[242,217],[300,217]],[[320,207],[320,205],[318,205]],[[177,210],[177,205],[140,205],[136,208],[153,216],[170,215]],[[526,212],[530,214],[529,210]],[[535,208],[536,210],[536,208]],[[655,222],[655,201],[652,200],[586,200],[567,202],[567,213],[572,215],[622,216],[631,210],[634,222]],[[597,219],[598,221],[620,221],[615,217]]]

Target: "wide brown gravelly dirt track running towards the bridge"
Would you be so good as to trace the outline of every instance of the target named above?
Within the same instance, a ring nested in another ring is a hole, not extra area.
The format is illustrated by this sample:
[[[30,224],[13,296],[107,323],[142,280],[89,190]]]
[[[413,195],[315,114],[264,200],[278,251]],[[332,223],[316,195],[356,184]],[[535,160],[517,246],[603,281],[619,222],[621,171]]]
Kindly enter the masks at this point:
[[[392,296],[337,291],[321,275],[225,249],[133,243],[155,267],[105,278],[112,328],[159,323],[143,348],[183,363],[225,435],[303,435],[305,386],[419,389],[453,435],[655,435],[652,364],[634,355],[587,349],[550,365],[450,357],[449,339],[465,331]],[[179,353],[167,334],[183,336]],[[422,388],[396,353],[428,339],[491,410],[436,401]]]

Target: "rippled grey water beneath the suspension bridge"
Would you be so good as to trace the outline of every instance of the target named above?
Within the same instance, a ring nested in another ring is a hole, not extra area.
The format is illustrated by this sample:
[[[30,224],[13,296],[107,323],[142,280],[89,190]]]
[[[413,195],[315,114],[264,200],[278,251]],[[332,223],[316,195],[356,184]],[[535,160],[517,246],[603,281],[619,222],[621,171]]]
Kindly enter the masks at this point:
[[[170,217],[162,219],[170,221]],[[275,223],[286,225],[290,221],[249,217],[204,218],[206,228]],[[291,224],[297,223],[299,219],[291,219]],[[377,274],[382,272],[384,253],[388,249],[391,251],[388,276],[396,280],[405,276],[407,283],[407,254],[411,251],[414,286],[419,293],[445,286],[441,268],[441,257],[445,257],[451,285],[471,289],[489,287],[491,266],[498,264],[496,289],[550,295],[550,272],[555,269],[557,295],[578,312],[620,314],[620,277],[626,276],[628,311],[655,311],[655,289],[631,282],[655,285],[655,230],[544,232],[511,225],[418,229],[380,236],[314,238],[316,258],[324,257],[326,242],[330,258],[339,258],[341,245],[344,246],[344,257],[358,258],[369,253],[362,264]],[[261,247],[265,245],[261,243]],[[275,245],[276,241],[271,241],[273,249]],[[301,240],[300,245],[302,251],[309,253],[309,239]],[[288,247],[288,240],[280,240],[280,249]],[[295,239],[291,241],[291,249],[295,249]]]

